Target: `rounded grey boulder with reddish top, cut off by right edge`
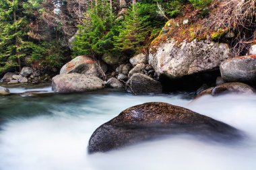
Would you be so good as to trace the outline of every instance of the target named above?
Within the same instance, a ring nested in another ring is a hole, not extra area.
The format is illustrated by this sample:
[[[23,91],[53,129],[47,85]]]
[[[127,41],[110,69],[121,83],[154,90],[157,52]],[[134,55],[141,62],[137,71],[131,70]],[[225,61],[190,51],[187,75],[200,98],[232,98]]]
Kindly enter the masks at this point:
[[[224,81],[256,81],[256,56],[238,56],[220,65]]]

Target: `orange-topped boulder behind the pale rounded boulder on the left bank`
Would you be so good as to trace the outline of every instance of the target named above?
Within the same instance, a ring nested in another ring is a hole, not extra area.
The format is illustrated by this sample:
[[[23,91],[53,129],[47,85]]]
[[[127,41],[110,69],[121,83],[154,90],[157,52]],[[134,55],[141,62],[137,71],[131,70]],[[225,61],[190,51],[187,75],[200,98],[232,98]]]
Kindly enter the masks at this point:
[[[60,74],[80,73],[102,77],[102,75],[106,73],[106,70],[107,67],[103,62],[94,60],[90,56],[77,56],[61,68]]]

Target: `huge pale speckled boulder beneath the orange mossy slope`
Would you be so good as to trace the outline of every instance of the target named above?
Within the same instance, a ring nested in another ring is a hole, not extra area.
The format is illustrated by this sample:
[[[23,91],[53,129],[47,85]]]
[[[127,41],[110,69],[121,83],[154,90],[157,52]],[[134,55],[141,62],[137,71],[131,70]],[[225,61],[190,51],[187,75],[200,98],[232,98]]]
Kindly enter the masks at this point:
[[[167,41],[150,47],[149,62],[158,75],[177,79],[203,71],[210,71],[230,58],[228,44],[208,41]]]

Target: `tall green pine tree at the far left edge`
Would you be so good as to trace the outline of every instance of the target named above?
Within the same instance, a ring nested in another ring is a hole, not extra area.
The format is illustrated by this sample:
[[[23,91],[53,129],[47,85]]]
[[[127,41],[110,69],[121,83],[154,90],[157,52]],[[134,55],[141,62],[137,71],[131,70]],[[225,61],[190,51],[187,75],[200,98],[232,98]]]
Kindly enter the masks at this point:
[[[0,0],[0,73],[21,69],[21,60],[26,56],[28,23],[23,4],[19,0]]]

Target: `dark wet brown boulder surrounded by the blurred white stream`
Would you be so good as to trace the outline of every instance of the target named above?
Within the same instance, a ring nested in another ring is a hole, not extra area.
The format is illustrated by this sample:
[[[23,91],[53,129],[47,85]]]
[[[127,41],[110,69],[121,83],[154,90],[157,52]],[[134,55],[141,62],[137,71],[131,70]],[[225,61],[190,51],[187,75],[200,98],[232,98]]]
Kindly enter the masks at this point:
[[[217,142],[241,138],[238,130],[207,116],[168,103],[135,105],[102,124],[92,134],[88,153],[106,152],[175,134],[191,134]]]

